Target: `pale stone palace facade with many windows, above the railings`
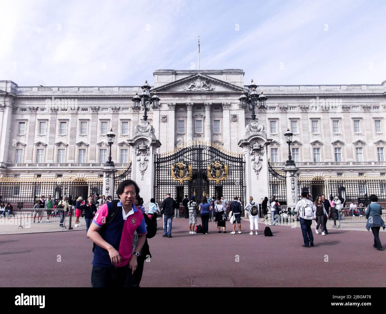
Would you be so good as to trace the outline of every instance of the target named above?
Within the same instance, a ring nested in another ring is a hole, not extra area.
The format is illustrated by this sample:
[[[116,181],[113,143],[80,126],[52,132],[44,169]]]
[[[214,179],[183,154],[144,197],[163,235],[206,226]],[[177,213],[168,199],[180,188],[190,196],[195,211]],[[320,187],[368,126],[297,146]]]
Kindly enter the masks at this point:
[[[240,108],[238,100],[250,81],[244,82],[242,70],[157,70],[153,75],[151,92],[161,100],[147,120],[161,143],[157,154],[195,140],[242,153],[238,143],[251,121],[251,112]],[[267,155],[275,168],[288,159],[284,133],[289,128],[300,175],[384,175],[386,81],[255,84],[267,97],[266,108],[256,109],[256,119],[272,140]],[[136,92],[141,94],[141,85],[19,86],[0,81],[0,175],[98,177],[108,158],[110,128],[116,134],[112,160],[123,168],[133,156],[128,140],[143,119],[143,108],[133,107]]]

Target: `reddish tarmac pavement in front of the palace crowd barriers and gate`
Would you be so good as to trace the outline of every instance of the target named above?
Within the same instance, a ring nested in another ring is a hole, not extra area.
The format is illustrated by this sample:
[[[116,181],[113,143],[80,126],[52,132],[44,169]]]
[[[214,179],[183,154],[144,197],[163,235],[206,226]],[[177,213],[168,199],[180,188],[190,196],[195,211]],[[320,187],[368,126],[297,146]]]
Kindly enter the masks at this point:
[[[259,235],[249,235],[248,220],[235,235],[229,222],[227,233],[218,233],[210,222],[207,235],[190,235],[187,226],[187,219],[173,219],[173,237],[163,238],[158,220],[141,287],[385,286],[386,250],[372,247],[371,232],[329,230],[323,236],[313,228],[315,246],[303,248],[300,225],[271,226],[273,237],[264,237],[263,222]],[[385,235],[380,234],[384,249]],[[0,287],[91,285],[92,243],[85,230],[2,235],[0,245]]]

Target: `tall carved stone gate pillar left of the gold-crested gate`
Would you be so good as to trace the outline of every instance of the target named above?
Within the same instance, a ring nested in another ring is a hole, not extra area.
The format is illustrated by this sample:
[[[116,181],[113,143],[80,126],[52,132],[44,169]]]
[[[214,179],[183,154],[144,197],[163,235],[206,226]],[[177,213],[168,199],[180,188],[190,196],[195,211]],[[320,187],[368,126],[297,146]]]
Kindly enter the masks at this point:
[[[157,148],[161,142],[154,134],[154,128],[149,121],[137,125],[135,133],[129,144],[132,146],[131,174],[144,200],[145,208],[149,208],[150,199],[155,197]]]

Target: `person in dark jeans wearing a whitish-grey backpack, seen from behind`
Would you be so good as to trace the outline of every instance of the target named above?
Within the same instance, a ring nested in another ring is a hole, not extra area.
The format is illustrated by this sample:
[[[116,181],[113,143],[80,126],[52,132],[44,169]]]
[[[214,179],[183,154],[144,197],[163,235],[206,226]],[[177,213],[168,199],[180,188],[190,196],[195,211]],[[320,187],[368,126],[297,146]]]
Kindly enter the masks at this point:
[[[303,247],[313,247],[313,235],[311,230],[312,220],[316,218],[316,206],[308,200],[307,192],[302,192],[302,199],[298,201],[295,207],[295,213],[299,213],[300,228],[303,233],[304,245]]]

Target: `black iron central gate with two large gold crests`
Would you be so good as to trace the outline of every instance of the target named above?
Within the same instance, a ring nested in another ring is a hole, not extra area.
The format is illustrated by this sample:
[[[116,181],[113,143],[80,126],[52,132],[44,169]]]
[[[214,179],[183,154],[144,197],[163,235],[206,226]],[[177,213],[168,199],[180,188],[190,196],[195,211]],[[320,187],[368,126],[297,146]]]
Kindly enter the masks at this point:
[[[201,200],[209,194],[228,201],[240,196],[244,204],[244,163],[242,154],[202,141],[161,154],[155,161],[156,201],[167,193],[178,201],[185,195]]]

